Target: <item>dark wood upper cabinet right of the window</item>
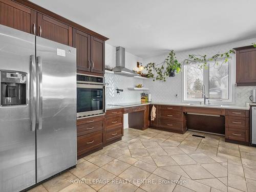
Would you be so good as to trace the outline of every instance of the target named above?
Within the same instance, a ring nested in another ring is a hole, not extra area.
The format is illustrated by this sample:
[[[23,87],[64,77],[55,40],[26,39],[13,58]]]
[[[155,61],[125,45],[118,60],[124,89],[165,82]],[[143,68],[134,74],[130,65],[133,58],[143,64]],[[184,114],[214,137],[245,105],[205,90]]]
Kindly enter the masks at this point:
[[[256,48],[246,46],[234,50],[237,86],[256,86]]]

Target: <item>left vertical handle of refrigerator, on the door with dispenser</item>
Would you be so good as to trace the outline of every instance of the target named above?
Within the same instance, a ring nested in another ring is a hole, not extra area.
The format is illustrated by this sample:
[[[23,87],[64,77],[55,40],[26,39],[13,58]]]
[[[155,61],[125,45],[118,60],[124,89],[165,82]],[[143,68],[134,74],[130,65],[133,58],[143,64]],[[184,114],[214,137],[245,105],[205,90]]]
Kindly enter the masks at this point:
[[[35,56],[30,56],[30,99],[31,99],[31,131],[36,127],[36,64]]]

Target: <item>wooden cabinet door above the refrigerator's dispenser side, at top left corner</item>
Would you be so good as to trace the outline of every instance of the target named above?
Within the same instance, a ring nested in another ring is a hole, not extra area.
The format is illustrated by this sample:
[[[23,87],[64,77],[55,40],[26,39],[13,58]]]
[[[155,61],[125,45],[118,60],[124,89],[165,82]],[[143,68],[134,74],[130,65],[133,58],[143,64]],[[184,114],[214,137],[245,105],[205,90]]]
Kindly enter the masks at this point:
[[[0,24],[33,33],[36,12],[10,0],[0,0]]]

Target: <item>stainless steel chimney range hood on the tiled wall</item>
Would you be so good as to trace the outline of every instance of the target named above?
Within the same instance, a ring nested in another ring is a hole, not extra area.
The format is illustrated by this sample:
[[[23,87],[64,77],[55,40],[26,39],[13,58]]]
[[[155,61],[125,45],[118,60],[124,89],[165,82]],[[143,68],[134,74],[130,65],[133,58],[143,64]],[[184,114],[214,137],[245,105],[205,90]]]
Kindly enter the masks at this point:
[[[139,76],[136,72],[125,68],[125,49],[123,47],[116,47],[116,67],[113,71],[117,75],[126,77]]]

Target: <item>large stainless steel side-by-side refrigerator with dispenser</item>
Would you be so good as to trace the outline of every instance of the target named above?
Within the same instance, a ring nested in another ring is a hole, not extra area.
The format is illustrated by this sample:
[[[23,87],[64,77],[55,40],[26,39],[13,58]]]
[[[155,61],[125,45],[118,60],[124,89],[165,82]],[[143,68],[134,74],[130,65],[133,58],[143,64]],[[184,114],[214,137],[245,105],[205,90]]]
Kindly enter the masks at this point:
[[[0,25],[0,191],[76,165],[76,49]]]

